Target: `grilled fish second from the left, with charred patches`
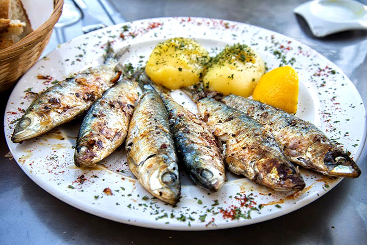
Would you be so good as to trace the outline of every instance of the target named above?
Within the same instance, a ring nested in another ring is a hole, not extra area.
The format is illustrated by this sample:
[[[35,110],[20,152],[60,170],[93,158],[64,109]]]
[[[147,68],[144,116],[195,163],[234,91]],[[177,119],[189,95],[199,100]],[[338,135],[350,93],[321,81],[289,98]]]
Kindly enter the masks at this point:
[[[136,88],[136,82],[119,81],[90,107],[76,140],[77,167],[96,164],[123,143],[138,99]]]

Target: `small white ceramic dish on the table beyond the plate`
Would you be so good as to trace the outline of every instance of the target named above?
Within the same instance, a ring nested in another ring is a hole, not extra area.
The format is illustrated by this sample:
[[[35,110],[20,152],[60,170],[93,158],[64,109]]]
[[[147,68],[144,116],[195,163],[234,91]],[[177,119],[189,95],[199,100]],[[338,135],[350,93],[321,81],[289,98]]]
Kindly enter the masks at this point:
[[[305,18],[316,37],[367,29],[367,6],[355,0],[313,0],[293,11]]]

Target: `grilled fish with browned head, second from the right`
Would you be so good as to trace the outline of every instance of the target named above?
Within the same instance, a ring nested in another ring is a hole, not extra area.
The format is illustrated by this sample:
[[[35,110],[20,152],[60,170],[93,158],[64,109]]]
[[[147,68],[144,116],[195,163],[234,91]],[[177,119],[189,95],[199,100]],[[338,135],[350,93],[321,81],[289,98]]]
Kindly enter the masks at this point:
[[[274,190],[302,190],[305,182],[281,153],[272,134],[239,110],[212,98],[199,100],[201,118],[215,128],[226,143],[225,161],[230,171]]]

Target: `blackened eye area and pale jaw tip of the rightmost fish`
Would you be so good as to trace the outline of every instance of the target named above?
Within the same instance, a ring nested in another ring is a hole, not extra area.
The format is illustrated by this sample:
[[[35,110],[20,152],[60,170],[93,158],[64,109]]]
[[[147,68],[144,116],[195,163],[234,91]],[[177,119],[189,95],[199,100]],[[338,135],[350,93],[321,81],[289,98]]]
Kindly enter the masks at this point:
[[[330,149],[325,154],[324,164],[329,169],[327,175],[347,178],[358,178],[361,175],[357,164],[338,148]]]

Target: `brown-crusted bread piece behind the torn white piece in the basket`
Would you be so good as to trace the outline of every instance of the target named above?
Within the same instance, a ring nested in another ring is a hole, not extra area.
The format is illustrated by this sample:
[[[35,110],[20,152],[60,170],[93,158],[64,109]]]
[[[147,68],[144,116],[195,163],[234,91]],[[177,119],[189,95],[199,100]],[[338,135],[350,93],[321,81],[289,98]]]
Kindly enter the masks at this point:
[[[0,18],[19,20],[25,23],[23,32],[19,34],[19,40],[33,32],[21,0],[0,0]]]

